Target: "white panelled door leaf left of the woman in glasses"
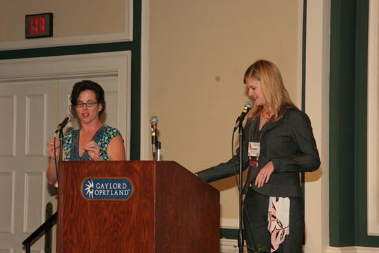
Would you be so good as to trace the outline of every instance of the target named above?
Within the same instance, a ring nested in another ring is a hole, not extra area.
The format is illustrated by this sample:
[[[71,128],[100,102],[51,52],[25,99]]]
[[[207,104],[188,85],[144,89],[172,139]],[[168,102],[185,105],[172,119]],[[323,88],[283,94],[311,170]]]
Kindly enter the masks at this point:
[[[45,180],[46,143],[54,130],[57,81],[0,85],[0,252],[21,242],[45,219],[54,188]],[[43,240],[33,252],[41,252]]]

